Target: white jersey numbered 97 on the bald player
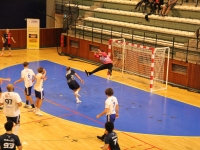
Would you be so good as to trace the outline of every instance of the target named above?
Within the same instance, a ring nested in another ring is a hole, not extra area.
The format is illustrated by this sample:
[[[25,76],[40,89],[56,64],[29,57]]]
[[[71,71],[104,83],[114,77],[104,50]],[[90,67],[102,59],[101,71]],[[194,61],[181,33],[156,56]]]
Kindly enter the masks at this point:
[[[4,114],[7,117],[17,117],[20,114],[18,103],[22,100],[18,93],[4,92],[0,97],[0,103],[4,104]]]

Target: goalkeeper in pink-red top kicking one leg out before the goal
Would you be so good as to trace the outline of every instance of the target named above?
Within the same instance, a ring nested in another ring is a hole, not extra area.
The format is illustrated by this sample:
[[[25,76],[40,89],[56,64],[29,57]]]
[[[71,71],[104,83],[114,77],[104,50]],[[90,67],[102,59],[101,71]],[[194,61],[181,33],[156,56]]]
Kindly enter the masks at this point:
[[[98,72],[100,70],[108,69],[107,75],[108,75],[108,79],[109,79],[110,76],[112,75],[113,61],[110,59],[110,57],[105,52],[102,52],[100,49],[98,49],[98,53],[94,53],[94,56],[95,56],[95,58],[100,58],[103,65],[99,66],[92,72],[87,72],[87,70],[85,70],[86,75],[90,76],[93,73]]]

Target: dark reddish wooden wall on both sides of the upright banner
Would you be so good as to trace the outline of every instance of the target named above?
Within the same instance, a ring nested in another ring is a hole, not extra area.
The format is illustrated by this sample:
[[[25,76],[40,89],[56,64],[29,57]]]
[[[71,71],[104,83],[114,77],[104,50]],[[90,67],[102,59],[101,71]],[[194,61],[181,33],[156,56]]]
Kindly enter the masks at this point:
[[[40,29],[40,47],[55,47],[60,44],[60,35],[62,33],[62,28],[41,28]],[[4,30],[0,30],[0,37],[5,33]],[[26,29],[10,29],[10,33],[15,39],[16,43],[12,43],[12,49],[25,49],[27,41],[27,31]],[[0,48],[3,43],[0,42]]]

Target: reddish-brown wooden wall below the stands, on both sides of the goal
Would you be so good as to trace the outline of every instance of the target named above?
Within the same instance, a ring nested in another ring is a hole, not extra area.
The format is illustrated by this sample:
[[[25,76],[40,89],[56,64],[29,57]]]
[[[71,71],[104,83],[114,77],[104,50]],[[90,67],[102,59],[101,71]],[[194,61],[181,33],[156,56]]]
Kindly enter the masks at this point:
[[[94,58],[94,48],[108,51],[108,45],[68,36],[63,52],[89,61],[100,62]],[[165,61],[166,72],[167,61]],[[173,85],[200,90],[200,65],[170,59],[168,81]]]

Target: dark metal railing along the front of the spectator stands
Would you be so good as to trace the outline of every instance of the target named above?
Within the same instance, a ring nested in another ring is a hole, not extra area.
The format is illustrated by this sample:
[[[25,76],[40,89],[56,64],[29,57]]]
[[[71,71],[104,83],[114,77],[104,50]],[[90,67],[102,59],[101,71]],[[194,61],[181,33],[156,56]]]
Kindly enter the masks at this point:
[[[188,38],[182,37],[184,42],[179,42],[180,37],[174,37],[172,35],[163,35],[154,32],[144,32],[141,34],[136,34],[136,30],[130,30],[127,32],[126,28],[122,28],[121,31],[116,32],[114,27],[109,30],[105,30],[104,25],[100,28],[95,28],[94,24],[91,26],[86,26],[83,23],[82,28],[77,28],[76,22],[73,24],[73,36],[81,39],[88,38],[91,41],[96,41],[99,43],[107,42],[109,39],[113,38],[125,38],[127,42],[137,43],[140,45],[145,45],[149,47],[170,47],[170,58],[180,59],[185,62],[200,62],[200,38]],[[138,31],[137,31],[138,32]],[[129,34],[127,34],[129,33]],[[153,37],[148,37],[152,34]],[[165,40],[165,38],[167,40]]]

